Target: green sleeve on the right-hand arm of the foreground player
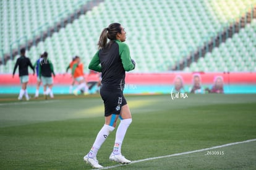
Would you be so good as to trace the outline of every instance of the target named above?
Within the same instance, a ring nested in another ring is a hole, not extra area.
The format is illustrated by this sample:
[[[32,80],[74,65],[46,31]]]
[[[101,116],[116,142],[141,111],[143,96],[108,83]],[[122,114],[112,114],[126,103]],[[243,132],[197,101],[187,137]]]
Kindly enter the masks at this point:
[[[130,57],[130,49],[125,43],[119,45],[119,55],[121,56],[124,70],[130,71],[135,69],[135,61]]]

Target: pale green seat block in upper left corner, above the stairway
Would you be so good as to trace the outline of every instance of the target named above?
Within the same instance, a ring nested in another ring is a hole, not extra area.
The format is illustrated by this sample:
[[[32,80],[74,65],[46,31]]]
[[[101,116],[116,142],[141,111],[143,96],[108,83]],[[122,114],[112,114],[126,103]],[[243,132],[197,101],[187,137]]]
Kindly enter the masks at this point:
[[[28,39],[33,38],[34,30],[49,22],[54,25],[63,17],[67,17],[82,4],[89,0],[25,0],[25,1],[1,1],[1,38],[0,45],[5,53],[9,52],[9,44],[26,35]],[[62,17],[60,17],[60,14]],[[41,31],[45,31],[46,27]],[[36,31],[40,35],[40,31]],[[3,46],[4,45],[4,46]]]

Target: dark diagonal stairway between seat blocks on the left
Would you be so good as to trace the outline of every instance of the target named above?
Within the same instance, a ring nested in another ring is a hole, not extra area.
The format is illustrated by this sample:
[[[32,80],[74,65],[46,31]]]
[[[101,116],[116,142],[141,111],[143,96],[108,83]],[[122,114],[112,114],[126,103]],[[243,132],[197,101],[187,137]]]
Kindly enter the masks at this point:
[[[61,28],[65,28],[67,24],[74,22],[74,20],[78,19],[80,15],[86,14],[87,11],[92,10],[93,7],[98,6],[98,4],[103,1],[104,0],[88,1],[85,5],[80,7],[80,9],[77,9],[77,11],[75,11],[74,13],[55,23],[52,27],[47,28],[43,33],[40,33],[40,35],[36,36],[33,39],[27,40],[25,44],[20,45],[18,48],[10,50],[12,51],[12,53],[4,54],[2,58],[0,57],[0,65],[5,65],[9,59],[14,59],[14,57],[20,53],[20,48],[26,48],[27,50],[29,50],[32,46],[38,45],[38,43],[40,43],[41,41],[45,41],[46,38],[51,37],[55,32],[59,32]]]

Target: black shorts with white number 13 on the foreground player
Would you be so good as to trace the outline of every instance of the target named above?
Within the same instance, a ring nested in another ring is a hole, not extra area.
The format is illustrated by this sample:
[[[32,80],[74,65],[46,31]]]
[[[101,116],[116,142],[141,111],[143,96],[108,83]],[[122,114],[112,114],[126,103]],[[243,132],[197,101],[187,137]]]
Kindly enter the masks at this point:
[[[122,106],[127,104],[122,90],[108,89],[103,86],[100,88],[100,95],[104,101],[105,116],[110,116],[111,114],[120,114]]]

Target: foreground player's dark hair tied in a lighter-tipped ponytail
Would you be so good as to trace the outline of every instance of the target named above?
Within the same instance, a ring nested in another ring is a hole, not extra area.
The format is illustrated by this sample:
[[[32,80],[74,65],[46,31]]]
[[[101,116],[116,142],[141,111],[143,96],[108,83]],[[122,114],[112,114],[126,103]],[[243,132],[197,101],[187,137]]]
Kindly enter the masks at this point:
[[[116,40],[117,33],[121,33],[120,23],[111,23],[108,28],[104,28],[101,32],[100,39],[98,41],[98,48],[105,48],[108,45],[109,40]]]

